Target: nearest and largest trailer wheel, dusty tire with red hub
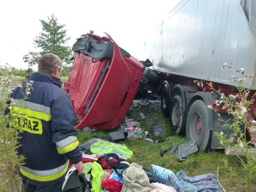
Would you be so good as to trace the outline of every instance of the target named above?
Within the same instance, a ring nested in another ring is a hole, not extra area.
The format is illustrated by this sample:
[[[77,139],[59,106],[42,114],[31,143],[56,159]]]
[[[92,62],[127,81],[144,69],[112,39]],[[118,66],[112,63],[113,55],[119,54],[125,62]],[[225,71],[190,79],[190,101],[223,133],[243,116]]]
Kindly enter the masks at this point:
[[[197,148],[209,150],[212,143],[212,131],[209,129],[208,111],[202,100],[196,100],[187,114],[186,136],[194,139]]]

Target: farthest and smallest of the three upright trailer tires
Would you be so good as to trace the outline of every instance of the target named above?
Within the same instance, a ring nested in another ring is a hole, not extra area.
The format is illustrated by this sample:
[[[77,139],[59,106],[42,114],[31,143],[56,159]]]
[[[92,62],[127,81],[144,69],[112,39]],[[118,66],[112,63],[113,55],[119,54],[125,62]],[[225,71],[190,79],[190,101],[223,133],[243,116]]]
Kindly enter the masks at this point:
[[[169,116],[171,87],[167,82],[163,83],[161,91],[161,109],[164,116]]]

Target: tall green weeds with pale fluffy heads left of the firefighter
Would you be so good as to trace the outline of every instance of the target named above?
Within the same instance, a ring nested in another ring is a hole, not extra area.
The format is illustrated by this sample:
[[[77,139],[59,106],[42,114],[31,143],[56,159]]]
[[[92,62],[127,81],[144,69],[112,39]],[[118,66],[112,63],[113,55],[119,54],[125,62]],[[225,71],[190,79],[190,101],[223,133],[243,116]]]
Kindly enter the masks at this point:
[[[6,67],[5,77],[0,76],[0,191],[21,191],[21,178],[18,175],[19,165],[22,164],[25,157],[17,155],[19,143],[18,133],[22,130],[22,125],[18,125],[18,121],[23,122],[22,117],[19,117],[18,111],[14,111],[9,104],[13,101],[10,98],[12,93],[11,87],[11,68]],[[24,79],[23,79],[24,80]],[[32,85],[26,87],[26,92],[23,93],[24,98],[19,101],[21,105],[23,100],[27,99],[29,90]],[[6,113],[9,111],[9,113]]]

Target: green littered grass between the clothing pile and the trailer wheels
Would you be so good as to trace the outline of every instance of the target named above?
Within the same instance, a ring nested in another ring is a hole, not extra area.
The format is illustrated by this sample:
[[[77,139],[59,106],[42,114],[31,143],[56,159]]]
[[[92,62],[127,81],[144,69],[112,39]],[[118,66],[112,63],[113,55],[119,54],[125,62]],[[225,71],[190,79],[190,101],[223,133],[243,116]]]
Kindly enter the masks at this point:
[[[146,118],[142,119],[139,113],[144,113]],[[134,119],[140,123],[140,128],[149,132],[150,139],[160,139],[162,143],[149,143],[143,139],[126,139],[120,144],[124,144],[133,151],[133,158],[127,161],[137,163],[142,167],[149,169],[152,172],[151,164],[162,166],[166,169],[172,170],[175,174],[181,169],[184,170],[188,176],[202,175],[206,173],[218,174],[219,181],[226,191],[240,191],[247,190],[245,169],[240,163],[240,160],[235,156],[227,156],[223,150],[214,150],[210,152],[198,151],[190,155],[186,160],[179,162],[177,153],[160,156],[161,150],[166,150],[168,146],[180,145],[187,142],[185,137],[178,137],[173,135],[169,125],[169,118],[164,117],[159,109],[150,107],[141,107],[129,110],[127,113],[129,119]],[[153,135],[151,125],[153,123],[164,123],[167,130],[166,136],[156,137]],[[83,133],[82,130],[78,132],[78,140],[80,144],[87,142],[89,139],[97,136],[108,141],[108,133],[116,130],[96,130],[91,133]],[[166,139],[169,136],[174,139]],[[246,160],[246,159],[244,159]],[[251,178],[251,190],[256,191],[256,175]]]

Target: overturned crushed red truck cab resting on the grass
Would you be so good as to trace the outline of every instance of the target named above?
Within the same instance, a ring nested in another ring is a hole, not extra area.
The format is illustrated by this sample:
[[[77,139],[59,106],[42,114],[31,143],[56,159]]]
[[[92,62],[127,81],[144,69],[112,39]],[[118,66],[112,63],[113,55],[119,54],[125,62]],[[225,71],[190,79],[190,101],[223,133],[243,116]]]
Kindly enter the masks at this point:
[[[141,62],[105,34],[81,35],[72,47],[74,63],[63,90],[78,116],[78,130],[120,126],[144,72]]]

